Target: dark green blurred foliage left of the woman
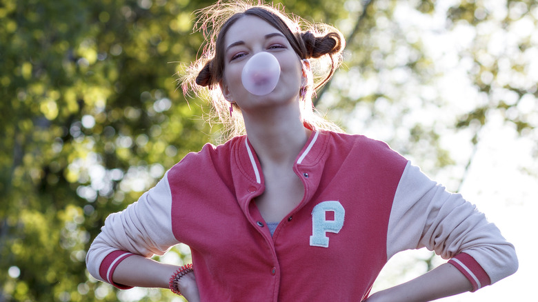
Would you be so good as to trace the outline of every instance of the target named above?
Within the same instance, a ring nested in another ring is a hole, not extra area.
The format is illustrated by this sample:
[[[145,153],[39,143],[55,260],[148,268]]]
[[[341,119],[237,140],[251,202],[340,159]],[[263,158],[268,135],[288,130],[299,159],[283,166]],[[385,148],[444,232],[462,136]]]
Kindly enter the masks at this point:
[[[175,76],[201,42],[190,12],[208,3],[2,2],[0,300],[117,301],[88,279],[85,251],[208,141],[192,119],[203,103]]]

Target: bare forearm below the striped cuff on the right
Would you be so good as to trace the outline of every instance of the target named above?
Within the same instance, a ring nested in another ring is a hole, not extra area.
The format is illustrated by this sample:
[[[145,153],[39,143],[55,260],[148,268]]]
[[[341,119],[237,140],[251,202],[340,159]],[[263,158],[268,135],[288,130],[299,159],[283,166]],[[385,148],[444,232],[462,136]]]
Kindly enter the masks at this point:
[[[470,281],[450,263],[440,265],[416,279],[372,294],[366,302],[423,302],[472,290]]]

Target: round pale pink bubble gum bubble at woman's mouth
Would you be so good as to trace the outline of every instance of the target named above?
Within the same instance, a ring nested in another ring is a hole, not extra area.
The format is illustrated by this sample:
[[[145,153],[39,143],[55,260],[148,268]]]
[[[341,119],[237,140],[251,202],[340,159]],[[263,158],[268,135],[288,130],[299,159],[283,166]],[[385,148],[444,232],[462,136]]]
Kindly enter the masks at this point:
[[[241,81],[248,92],[266,95],[277,87],[280,77],[280,64],[269,52],[258,52],[243,67]]]

